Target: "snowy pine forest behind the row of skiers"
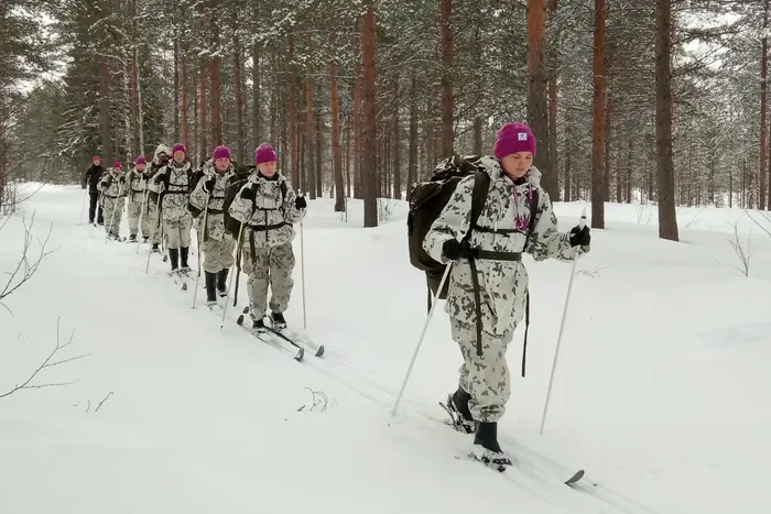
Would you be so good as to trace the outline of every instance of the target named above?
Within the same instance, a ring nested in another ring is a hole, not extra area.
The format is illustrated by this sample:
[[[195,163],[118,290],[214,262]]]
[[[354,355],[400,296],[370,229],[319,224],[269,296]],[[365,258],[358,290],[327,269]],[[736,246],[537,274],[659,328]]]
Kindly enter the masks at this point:
[[[0,190],[182,142],[294,187],[409,199],[525,121],[553,200],[771,208],[770,0],[6,0]],[[3,193],[8,194],[8,193]]]

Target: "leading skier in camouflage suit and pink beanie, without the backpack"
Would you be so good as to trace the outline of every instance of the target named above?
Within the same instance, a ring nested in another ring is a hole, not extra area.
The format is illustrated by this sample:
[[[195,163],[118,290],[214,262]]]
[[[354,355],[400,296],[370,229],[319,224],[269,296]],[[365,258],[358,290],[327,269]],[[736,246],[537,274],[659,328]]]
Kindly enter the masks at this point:
[[[504,124],[498,131],[493,154],[479,161],[490,176],[490,185],[468,242],[461,241],[469,230],[474,175],[458,183],[426,234],[423,249],[436,261],[453,261],[445,310],[464,363],[449,406],[460,415],[465,431],[475,431],[476,457],[501,468],[511,464],[498,444],[498,420],[511,395],[506,349],[525,313],[528,292],[521,253],[530,253],[536,261],[572,261],[589,250],[590,237],[588,227],[575,227],[569,233],[557,231],[552,203],[540,186],[541,173],[532,165],[535,138],[528,125]],[[533,230],[526,237],[534,189],[537,208]],[[495,254],[482,255],[480,251]],[[480,335],[473,263],[481,298]]]

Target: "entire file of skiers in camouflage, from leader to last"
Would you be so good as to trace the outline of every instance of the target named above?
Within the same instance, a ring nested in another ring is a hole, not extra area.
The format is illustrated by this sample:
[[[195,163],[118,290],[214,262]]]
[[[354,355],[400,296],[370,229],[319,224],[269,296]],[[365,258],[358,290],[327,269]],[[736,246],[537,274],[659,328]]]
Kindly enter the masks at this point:
[[[474,456],[499,470],[511,466],[498,442],[498,420],[511,394],[506,350],[528,311],[529,280],[521,255],[530,253],[536,261],[572,261],[589,251],[590,242],[588,227],[557,230],[552,203],[540,185],[541,173],[533,166],[534,155],[531,129],[506,123],[498,131],[493,155],[470,161],[456,155],[443,162],[437,175],[443,165],[455,166],[460,161],[470,163],[475,173],[453,185],[450,195],[426,195],[446,204],[427,215],[427,231],[416,245],[441,266],[452,264],[444,275],[449,273],[445,310],[464,363],[458,387],[447,398],[448,412],[456,429],[475,434]],[[270,145],[258,146],[256,168],[230,198],[228,192],[238,184],[239,172],[226,146],[217,146],[198,171],[193,171],[182,144],[172,149],[159,145],[149,168],[139,157],[126,175],[120,163],[101,175],[100,160],[94,157],[94,166],[84,177],[90,182],[89,220],[94,222],[100,193],[105,221],[100,209],[98,222],[118,238],[122,198],[128,195],[130,240],[135,241],[141,218],[142,236],[145,242],[152,239],[152,251],[159,251],[163,233],[172,272],[187,273],[189,230],[195,218],[207,303],[216,304],[217,292],[226,295],[228,270],[239,255],[249,275],[252,329],[264,329],[268,307],[273,326],[281,329],[293,286],[293,225],[305,216],[306,203],[287,186],[275,162]],[[442,181],[442,187],[449,184]],[[413,194],[411,215],[416,210],[414,203]],[[432,287],[431,277],[428,283]]]

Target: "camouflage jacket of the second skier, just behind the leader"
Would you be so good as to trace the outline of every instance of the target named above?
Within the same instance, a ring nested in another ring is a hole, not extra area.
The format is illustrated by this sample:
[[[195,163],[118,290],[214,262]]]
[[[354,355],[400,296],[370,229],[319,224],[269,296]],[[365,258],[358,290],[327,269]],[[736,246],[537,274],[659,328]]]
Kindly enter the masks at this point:
[[[281,184],[286,185],[286,195],[282,194]],[[254,192],[254,200],[241,197],[247,188]],[[228,210],[234,219],[251,229],[249,234],[245,230],[245,244],[253,241],[254,248],[268,248],[291,242],[295,236],[293,223],[302,220],[306,210],[294,205],[296,196],[286,177],[279,172],[267,178],[259,169],[254,171]]]

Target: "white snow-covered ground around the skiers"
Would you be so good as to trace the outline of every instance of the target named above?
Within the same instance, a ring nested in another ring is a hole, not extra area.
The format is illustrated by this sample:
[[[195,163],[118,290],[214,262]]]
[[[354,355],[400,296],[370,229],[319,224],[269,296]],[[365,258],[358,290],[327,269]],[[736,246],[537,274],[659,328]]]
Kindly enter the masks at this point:
[[[526,258],[528,376],[520,328],[500,427],[518,468],[500,475],[456,459],[471,436],[442,424],[460,363],[443,311],[390,416],[425,320],[404,203],[377,229],[360,228],[358,201],[347,222],[332,200],[310,203],[307,333],[327,352],[297,363],[232,322],[243,275],[220,329],[203,281],[193,309],[159,256],[145,274],[146,247],[78,225],[82,200],[46,186],[0,232],[2,272],[19,260],[22,215],[55,250],[0,308],[0,395],[55,348],[57,319],[59,342],[74,336],[53,361],[87,354],[30,385],[77,382],[0,398],[3,514],[771,512],[771,238],[741,210],[680,209],[670,242],[655,208],[607,205],[578,264],[543,436],[571,266]],[[556,204],[561,228],[584,206]],[[760,244],[749,277],[732,267],[737,220]],[[300,243],[287,320],[302,328]],[[561,484],[579,468],[593,494]]]

